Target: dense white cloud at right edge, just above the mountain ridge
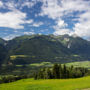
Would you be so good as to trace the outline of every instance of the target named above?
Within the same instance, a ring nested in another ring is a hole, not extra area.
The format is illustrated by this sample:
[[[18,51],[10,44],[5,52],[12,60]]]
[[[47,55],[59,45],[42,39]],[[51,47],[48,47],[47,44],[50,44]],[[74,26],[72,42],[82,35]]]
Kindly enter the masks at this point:
[[[90,12],[79,15],[78,21],[73,28],[74,33],[81,37],[90,37]]]

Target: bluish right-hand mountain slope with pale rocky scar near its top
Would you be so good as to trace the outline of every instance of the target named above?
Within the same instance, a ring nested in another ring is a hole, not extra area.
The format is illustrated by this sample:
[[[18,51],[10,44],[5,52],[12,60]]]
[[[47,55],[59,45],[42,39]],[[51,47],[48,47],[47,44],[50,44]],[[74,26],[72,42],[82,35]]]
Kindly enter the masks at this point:
[[[77,36],[62,35],[55,37],[74,54],[90,56],[90,41]]]

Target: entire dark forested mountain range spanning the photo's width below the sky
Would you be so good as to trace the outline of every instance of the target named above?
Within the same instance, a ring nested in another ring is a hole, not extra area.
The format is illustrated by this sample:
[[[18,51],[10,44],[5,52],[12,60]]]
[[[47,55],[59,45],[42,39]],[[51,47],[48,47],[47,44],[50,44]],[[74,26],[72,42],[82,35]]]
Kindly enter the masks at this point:
[[[76,35],[24,35],[0,39],[0,65],[90,60],[90,41]]]

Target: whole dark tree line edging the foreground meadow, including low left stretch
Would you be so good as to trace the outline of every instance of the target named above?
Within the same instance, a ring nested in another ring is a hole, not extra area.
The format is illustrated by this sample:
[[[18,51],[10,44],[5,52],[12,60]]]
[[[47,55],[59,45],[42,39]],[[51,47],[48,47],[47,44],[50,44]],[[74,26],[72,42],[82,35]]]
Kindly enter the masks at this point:
[[[79,78],[83,77],[86,74],[90,75],[90,71],[86,68],[82,67],[73,67],[73,66],[66,66],[61,64],[54,64],[53,67],[49,68],[41,68],[37,72],[33,72],[34,79],[67,79],[67,78]],[[6,76],[0,76],[0,83],[9,83],[14,82],[20,79],[25,78],[32,78],[32,75],[6,75]]]

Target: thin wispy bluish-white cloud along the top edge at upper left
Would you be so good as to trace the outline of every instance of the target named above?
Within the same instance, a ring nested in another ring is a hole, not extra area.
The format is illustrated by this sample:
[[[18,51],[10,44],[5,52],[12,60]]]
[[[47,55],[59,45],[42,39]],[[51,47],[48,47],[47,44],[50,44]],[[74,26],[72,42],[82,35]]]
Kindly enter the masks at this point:
[[[33,7],[38,0],[6,0],[6,2],[3,3],[3,1],[1,2],[1,4],[4,4],[5,8],[9,9],[9,10],[14,10],[14,9],[23,9],[23,7],[28,7],[31,8]]]

